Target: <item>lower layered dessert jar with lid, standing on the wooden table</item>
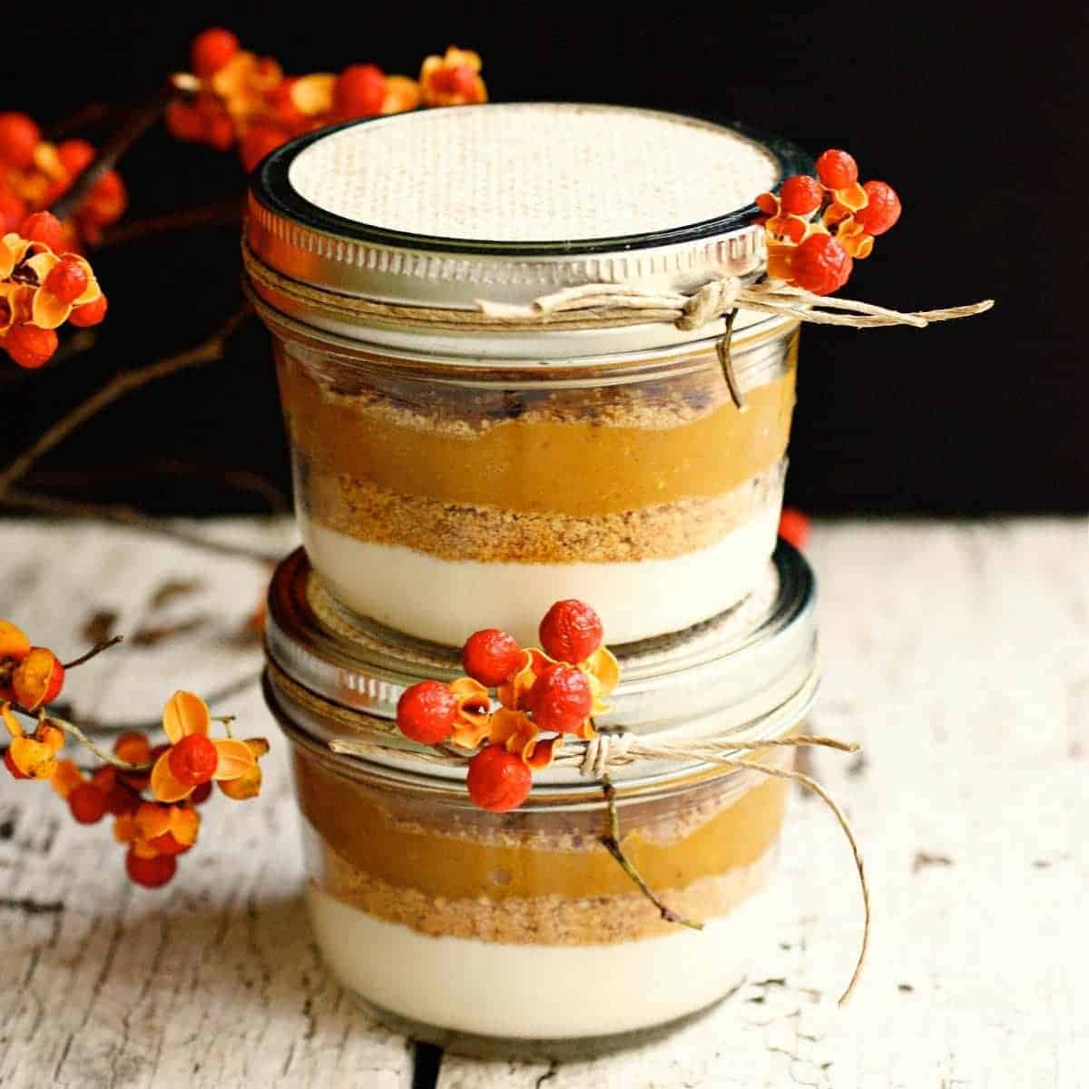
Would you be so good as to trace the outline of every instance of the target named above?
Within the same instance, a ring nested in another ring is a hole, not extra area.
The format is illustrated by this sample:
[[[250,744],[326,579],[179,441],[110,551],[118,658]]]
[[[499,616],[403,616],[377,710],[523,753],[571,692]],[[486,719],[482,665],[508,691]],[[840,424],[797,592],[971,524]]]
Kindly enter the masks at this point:
[[[738,609],[621,652],[599,726],[672,739],[798,731],[817,685],[812,605],[805,562],[781,546]],[[393,1027],[470,1054],[608,1050],[712,1005],[774,950],[782,780],[698,761],[611,774],[624,855],[671,910],[702,923],[689,929],[664,921],[607,848],[600,782],[553,767],[522,807],[485,812],[464,766],[427,763],[391,732],[404,688],[452,678],[456,658],[360,625],[301,552],[273,579],[268,653],[318,945]],[[331,751],[343,737],[381,747]],[[751,755],[786,767],[792,751]]]

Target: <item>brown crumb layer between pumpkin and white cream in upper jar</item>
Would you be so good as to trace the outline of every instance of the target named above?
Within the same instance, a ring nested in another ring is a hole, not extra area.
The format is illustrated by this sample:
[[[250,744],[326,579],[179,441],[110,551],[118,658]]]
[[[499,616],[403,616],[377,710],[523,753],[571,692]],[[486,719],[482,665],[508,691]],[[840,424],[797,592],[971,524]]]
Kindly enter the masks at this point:
[[[574,517],[405,495],[313,463],[296,461],[296,469],[305,513],[329,529],[443,560],[485,563],[616,563],[685,555],[778,507],[783,480],[782,465],[775,465],[710,499]]]

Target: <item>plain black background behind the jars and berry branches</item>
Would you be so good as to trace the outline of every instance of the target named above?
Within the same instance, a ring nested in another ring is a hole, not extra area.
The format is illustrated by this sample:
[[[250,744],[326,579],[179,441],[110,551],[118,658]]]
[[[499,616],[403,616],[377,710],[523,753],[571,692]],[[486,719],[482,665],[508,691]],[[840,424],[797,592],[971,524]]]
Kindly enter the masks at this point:
[[[87,102],[132,106],[225,25],[289,72],[375,61],[415,74],[475,48],[495,100],[653,106],[741,119],[812,152],[845,147],[893,183],[900,225],[851,292],[902,308],[993,296],[993,313],[915,330],[813,329],[803,342],[788,500],[813,512],[982,513],[1089,506],[1084,347],[1089,161],[1086,15],[1078,5],[971,10],[824,4],[804,15],[708,4],[2,4],[0,108],[48,129]],[[101,139],[109,124],[86,135]],[[129,221],[231,201],[232,154],[160,126],[121,163]],[[237,229],[203,227],[95,256],[111,301],[89,353],[0,367],[0,457],[119,370],[203,339],[237,305]],[[154,511],[268,509],[286,492],[267,337],[96,417],[29,478],[57,494]]]

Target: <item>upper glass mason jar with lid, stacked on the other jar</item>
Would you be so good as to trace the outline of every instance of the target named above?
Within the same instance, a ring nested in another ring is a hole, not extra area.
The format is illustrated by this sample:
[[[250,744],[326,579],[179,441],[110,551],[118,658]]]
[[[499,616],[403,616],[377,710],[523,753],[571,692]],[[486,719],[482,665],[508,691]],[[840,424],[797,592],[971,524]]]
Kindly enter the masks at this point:
[[[641,174],[595,168],[588,149],[617,126],[658,142]],[[406,142],[423,163],[466,140],[473,184],[507,201],[513,224],[492,204],[452,203],[430,175],[413,180],[412,204],[379,184],[376,163],[403,164]],[[689,179],[662,211],[664,164],[697,150],[732,164],[730,184]],[[519,205],[509,187],[533,192],[542,170],[567,196]],[[489,626],[531,641],[572,597],[626,644],[751,592],[775,543],[796,321],[736,316],[739,407],[715,352],[722,320],[465,320],[479,298],[526,304],[601,280],[689,291],[754,278],[763,236],[746,206],[783,170],[781,151],[733,130],[612,107],[412,114],[274,152],[253,187],[247,267],[273,332],[303,539],[330,591],[444,645]],[[427,199],[437,207],[420,211]],[[599,237],[610,230],[626,233]]]

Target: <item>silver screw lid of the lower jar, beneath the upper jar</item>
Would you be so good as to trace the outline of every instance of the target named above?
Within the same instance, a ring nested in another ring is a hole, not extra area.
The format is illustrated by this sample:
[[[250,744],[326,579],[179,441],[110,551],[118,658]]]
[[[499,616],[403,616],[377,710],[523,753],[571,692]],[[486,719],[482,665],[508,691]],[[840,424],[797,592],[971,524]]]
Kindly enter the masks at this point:
[[[815,594],[808,564],[780,541],[758,589],[734,609],[675,635],[612,647],[621,682],[610,697],[611,710],[596,717],[596,724],[661,739],[682,733],[710,737],[749,724],[759,724],[767,737],[795,729],[817,688]],[[608,637],[605,632],[607,643]],[[417,771],[416,747],[389,733],[397,700],[419,681],[463,674],[455,650],[344,610],[302,549],[273,575],[266,653],[270,690],[295,725],[318,742],[378,733],[382,745],[396,751],[377,755],[376,762]],[[643,764],[634,773],[671,767]],[[464,778],[460,769],[429,767],[428,772]],[[577,772],[549,769],[535,778],[566,782]]]

